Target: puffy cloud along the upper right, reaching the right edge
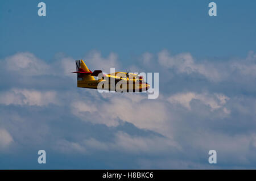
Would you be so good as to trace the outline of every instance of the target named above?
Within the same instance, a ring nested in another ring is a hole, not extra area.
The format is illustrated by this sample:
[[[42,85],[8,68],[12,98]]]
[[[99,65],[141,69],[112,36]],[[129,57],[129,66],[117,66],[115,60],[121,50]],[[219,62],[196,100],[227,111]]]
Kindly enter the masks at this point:
[[[174,69],[177,73],[198,73],[213,82],[238,82],[238,79],[243,82],[256,77],[256,54],[253,51],[242,59],[197,62],[190,53],[172,55],[168,50],[162,50],[158,53],[158,62],[163,68]]]

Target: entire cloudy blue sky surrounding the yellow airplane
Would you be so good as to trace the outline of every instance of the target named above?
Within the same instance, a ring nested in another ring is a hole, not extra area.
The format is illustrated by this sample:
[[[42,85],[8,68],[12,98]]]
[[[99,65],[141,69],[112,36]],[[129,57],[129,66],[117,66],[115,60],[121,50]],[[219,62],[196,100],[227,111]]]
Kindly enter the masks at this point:
[[[255,169],[255,1],[39,2],[0,2],[0,169]],[[159,98],[79,89],[77,59]]]

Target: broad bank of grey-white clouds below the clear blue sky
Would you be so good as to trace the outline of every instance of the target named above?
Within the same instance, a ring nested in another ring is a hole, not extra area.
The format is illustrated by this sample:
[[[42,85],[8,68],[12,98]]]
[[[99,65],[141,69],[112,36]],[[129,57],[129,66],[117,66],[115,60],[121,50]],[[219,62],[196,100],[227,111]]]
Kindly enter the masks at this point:
[[[14,159],[16,150],[28,158],[45,149],[56,159],[48,166],[56,169],[255,169],[254,52],[223,61],[146,52],[131,67],[159,72],[158,99],[79,89],[71,74],[75,60],[56,57],[47,62],[20,52],[1,60],[5,157]],[[115,53],[102,57],[94,50],[84,59],[91,70],[125,70]],[[217,165],[208,163],[211,149]]]

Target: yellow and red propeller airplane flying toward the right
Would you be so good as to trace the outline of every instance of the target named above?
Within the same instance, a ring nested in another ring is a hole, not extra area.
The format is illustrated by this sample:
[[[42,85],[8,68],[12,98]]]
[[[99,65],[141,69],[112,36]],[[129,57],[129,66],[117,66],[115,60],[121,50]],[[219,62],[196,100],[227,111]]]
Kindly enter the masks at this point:
[[[77,74],[77,87],[117,92],[143,92],[150,87],[138,74],[122,71],[104,74],[101,70],[92,72],[83,60],[76,60],[76,71],[73,73]]]

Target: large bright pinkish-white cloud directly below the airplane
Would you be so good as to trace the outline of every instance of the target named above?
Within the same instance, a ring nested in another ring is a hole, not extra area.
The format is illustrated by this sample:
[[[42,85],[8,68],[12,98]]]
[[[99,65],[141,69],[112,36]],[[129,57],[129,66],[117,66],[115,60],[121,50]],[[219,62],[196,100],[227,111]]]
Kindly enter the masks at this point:
[[[171,119],[164,102],[155,100],[151,102],[147,96],[139,94],[112,94],[109,93],[108,101],[89,99],[81,102],[73,100],[72,113],[85,121],[100,123],[116,127],[119,119],[133,123],[141,129],[149,129],[162,134],[170,132],[167,121]],[[89,119],[96,117],[96,119]]]

